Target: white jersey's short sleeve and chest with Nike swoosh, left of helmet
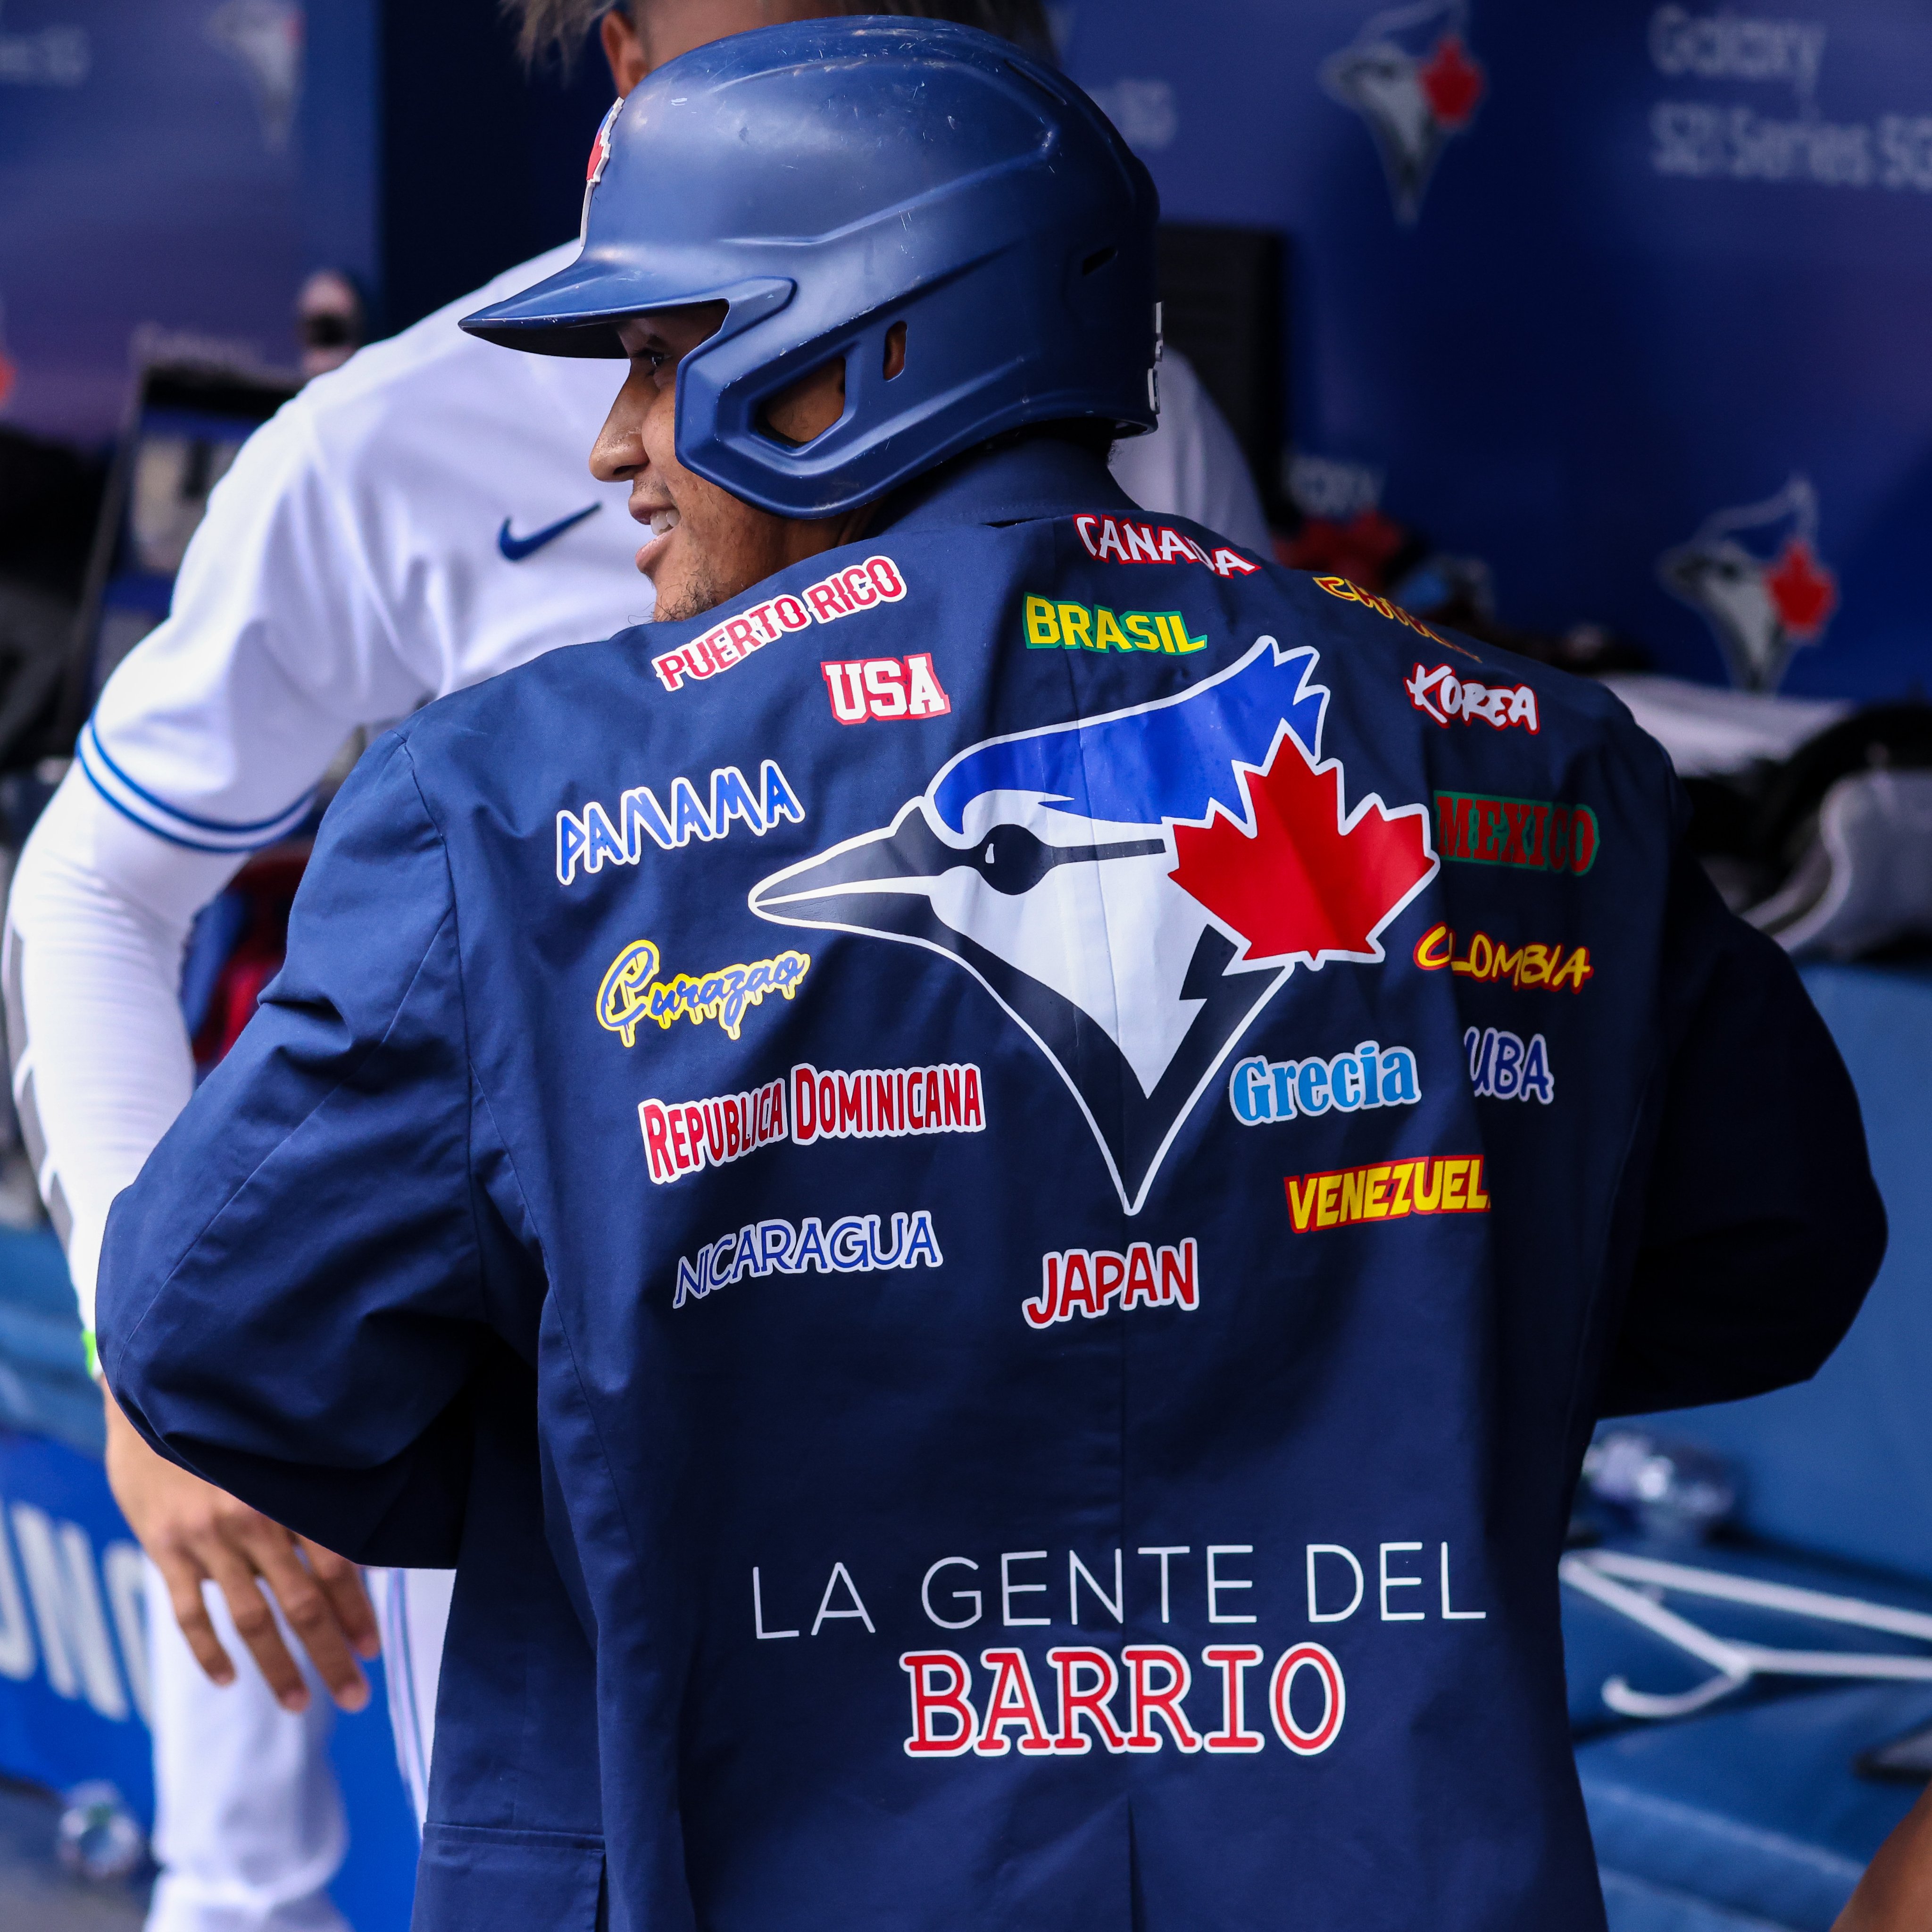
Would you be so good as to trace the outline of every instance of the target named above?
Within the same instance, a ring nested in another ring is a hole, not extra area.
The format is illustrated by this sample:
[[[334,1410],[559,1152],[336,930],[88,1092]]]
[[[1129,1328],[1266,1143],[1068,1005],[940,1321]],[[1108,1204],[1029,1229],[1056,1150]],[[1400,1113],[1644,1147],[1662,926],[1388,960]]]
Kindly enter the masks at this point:
[[[168,622],[81,732],[102,798],[189,850],[251,852],[303,821],[357,724],[649,616],[628,487],[589,473],[622,363],[456,327],[574,253],[363,350],[249,437]]]

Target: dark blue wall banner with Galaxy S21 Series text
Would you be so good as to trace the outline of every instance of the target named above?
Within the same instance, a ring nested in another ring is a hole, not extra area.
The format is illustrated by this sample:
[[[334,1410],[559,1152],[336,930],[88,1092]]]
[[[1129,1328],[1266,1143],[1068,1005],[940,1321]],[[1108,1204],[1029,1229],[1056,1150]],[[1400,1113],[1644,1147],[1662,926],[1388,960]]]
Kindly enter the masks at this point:
[[[1291,236],[1304,506],[1687,676],[1924,678],[1924,8],[1049,12],[1169,218]]]

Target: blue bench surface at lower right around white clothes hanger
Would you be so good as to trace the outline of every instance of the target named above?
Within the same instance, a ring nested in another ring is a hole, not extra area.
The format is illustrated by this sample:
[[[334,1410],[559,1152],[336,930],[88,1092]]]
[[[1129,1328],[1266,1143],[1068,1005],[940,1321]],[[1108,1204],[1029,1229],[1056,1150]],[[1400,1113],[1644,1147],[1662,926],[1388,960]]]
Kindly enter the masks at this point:
[[[1804,983],[1859,1088],[1872,1169],[1891,1221],[1884,1269],[1816,1378],[1789,1389],[1652,1418],[1731,1459],[1741,1524],[1756,1542],[1652,1555],[1741,1571],[1909,1609],[1932,1609],[1932,1196],[1924,1094],[1932,1082],[1932,974],[1810,966]],[[1861,1565],[1882,1565],[1864,1569]],[[1903,1573],[1903,1575],[1901,1575]],[[1723,1636],[1791,1648],[1905,1650],[1876,1633],[1673,1596]],[[1571,1723],[1613,1932],[1719,1932],[1762,1915],[1828,1928],[1866,1859],[1917,1795],[1861,1779],[1851,1760],[1932,1716],[1924,1689],[1818,1690],[1760,1679],[1712,1712],[1625,1723],[1602,1685],[1689,1690],[1708,1667],[1575,1590],[1563,1592]]]

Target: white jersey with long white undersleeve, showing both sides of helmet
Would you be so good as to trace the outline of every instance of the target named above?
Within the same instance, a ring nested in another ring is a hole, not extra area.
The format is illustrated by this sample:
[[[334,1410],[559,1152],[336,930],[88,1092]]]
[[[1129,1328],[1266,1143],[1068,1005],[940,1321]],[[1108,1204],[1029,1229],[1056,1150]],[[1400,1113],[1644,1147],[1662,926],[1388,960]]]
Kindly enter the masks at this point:
[[[626,485],[591,442],[616,361],[518,355],[456,321],[564,267],[500,274],[319,377],[209,498],[168,620],[114,672],[8,906],[14,1094],[93,1323],[114,1196],[193,1088],[182,947],[242,860],[296,831],[357,726],[651,612]],[[1240,450],[1179,355],[1117,473],[1265,549]]]

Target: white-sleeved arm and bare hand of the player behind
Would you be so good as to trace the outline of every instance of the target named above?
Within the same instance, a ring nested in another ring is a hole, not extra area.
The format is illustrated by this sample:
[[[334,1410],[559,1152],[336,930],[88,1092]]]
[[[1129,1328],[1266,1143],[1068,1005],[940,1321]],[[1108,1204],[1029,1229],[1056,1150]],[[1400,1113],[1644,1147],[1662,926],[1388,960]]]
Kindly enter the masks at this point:
[[[309,810],[350,724],[423,694],[367,591],[344,493],[299,406],[257,431],[189,545],[168,622],[102,692],[79,759],[21,854],[4,987],[14,1092],[93,1327],[114,1196],[193,1090],[180,1012],[195,912]],[[354,1565],[156,1457],[106,1408],[108,1480],[203,1667],[232,1660],[201,1582],[224,1584],[276,1694],[307,1700],[267,1588],[348,1704],[375,1617]]]

